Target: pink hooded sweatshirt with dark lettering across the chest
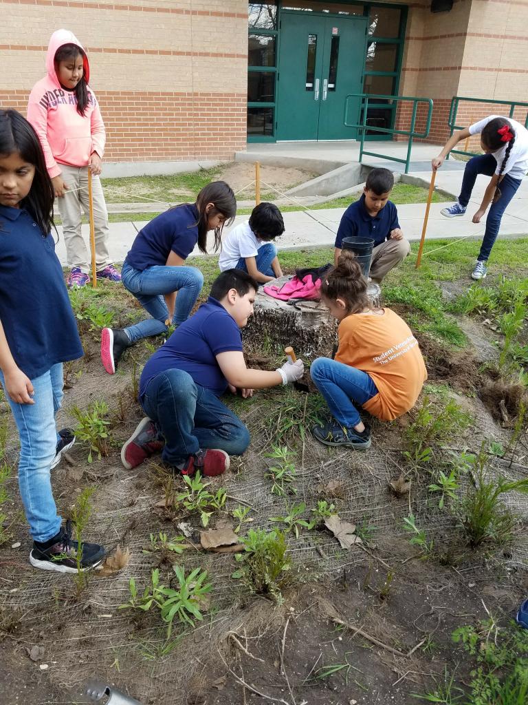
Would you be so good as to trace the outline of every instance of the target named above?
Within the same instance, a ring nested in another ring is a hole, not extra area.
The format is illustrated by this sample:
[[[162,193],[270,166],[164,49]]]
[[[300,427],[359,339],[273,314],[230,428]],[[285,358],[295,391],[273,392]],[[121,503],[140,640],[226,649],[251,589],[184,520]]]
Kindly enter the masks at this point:
[[[92,89],[87,86],[88,104],[82,116],[77,113],[75,92],[65,90],[58,80],[54,58],[63,44],[77,44],[82,49],[72,32],[54,32],[46,54],[48,75],[34,85],[27,104],[27,120],[39,136],[51,178],[61,173],[61,164],[88,166],[93,152],[102,159],[106,142],[103,118]],[[88,83],[90,67],[86,56],[84,78]]]

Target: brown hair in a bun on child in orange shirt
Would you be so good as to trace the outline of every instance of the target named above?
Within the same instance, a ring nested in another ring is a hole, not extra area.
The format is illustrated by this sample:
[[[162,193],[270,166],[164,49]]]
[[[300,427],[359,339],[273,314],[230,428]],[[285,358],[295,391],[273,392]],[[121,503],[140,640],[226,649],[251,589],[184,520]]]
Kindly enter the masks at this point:
[[[367,296],[367,280],[363,276],[356,256],[350,250],[341,250],[341,255],[326,276],[321,280],[321,295],[331,301],[344,300],[347,313],[359,313],[372,309]]]

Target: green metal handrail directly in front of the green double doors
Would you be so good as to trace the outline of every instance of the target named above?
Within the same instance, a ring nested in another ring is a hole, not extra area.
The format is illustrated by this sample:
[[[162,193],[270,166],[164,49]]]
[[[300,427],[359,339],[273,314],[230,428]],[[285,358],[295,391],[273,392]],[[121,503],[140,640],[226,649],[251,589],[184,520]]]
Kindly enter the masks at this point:
[[[363,110],[363,122],[357,124],[351,124],[347,123],[346,121],[346,115],[348,113],[348,99],[351,98],[360,98],[362,100],[361,104],[361,109]],[[372,98],[377,102],[378,100],[384,100],[386,102],[389,101],[411,101],[413,102],[413,114],[410,118],[410,130],[394,130],[393,128],[378,128],[375,127],[374,125],[367,125],[367,111],[368,111],[368,102],[369,99]],[[417,114],[417,109],[418,109],[418,104],[420,103],[425,103],[429,106],[429,109],[427,111],[427,120],[425,123],[425,130],[423,132],[416,132],[415,131],[415,126],[416,126],[416,114]],[[408,173],[409,171],[409,163],[410,163],[410,151],[413,149],[413,140],[418,138],[418,139],[424,139],[425,137],[429,136],[429,130],[431,129],[431,118],[433,114],[433,102],[431,98],[415,98],[415,97],[410,97],[406,95],[375,95],[372,93],[351,93],[346,96],[345,99],[345,115],[344,115],[344,125],[346,128],[356,128],[356,130],[360,130],[360,150],[359,150],[359,161],[361,163],[361,160],[363,159],[363,154],[368,154],[370,157],[383,157],[384,159],[390,159],[391,161],[399,161],[401,164],[406,165],[406,171],[405,173]],[[400,159],[400,157],[390,157],[389,154],[378,154],[377,152],[365,152],[365,133],[367,130],[373,130],[375,132],[382,133],[384,135],[406,135],[408,137],[408,145],[407,145],[407,157],[406,159]]]

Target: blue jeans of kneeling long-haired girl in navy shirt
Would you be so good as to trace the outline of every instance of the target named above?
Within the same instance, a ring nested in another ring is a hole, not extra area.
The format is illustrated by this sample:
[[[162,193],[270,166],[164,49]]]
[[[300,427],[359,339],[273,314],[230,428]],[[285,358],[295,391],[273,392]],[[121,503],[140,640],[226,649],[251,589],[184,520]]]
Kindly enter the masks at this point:
[[[125,260],[121,271],[121,281],[152,316],[151,319],[125,328],[130,341],[135,343],[141,338],[158,336],[160,333],[167,332],[165,321],[169,312],[163,294],[177,291],[172,323],[178,325],[187,321],[191,309],[200,295],[203,275],[194,266],[149,266],[143,271],[139,271]]]

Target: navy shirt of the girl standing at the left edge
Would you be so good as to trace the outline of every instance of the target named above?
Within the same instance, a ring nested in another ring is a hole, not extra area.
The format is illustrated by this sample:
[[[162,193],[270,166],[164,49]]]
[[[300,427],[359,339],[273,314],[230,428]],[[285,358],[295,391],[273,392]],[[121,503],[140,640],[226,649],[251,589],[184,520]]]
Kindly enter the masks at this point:
[[[30,379],[82,357],[51,234],[30,214],[0,206],[0,321],[11,355]]]

